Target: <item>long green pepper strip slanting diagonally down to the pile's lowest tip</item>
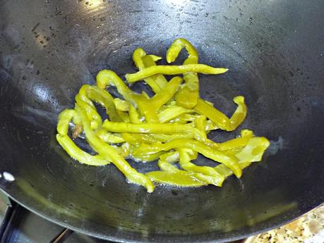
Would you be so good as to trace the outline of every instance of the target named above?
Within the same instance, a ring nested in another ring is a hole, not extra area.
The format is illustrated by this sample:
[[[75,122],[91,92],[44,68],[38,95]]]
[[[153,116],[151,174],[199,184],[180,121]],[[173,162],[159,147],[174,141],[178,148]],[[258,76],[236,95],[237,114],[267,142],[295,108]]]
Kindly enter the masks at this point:
[[[126,176],[126,178],[137,185],[142,185],[146,187],[148,192],[153,192],[154,185],[145,175],[138,173],[134,168],[132,168],[125,159],[120,156],[113,147],[109,146],[105,142],[95,135],[95,133],[91,130],[90,120],[88,120],[88,116],[85,113],[83,105],[76,104],[76,111],[78,112],[85,132],[85,138],[88,143],[95,149],[98,154],[103,156],[104,158],[109,158],[109,160],[114,163],[114,165],[121,170],[122,173]]]

